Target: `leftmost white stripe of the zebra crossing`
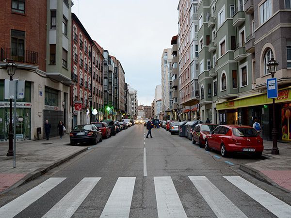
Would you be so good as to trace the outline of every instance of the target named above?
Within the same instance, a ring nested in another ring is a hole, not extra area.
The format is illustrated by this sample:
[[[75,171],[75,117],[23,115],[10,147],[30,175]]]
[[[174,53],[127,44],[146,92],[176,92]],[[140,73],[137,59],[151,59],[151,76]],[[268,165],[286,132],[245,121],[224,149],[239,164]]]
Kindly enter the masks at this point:
[[[33,202],[44,196],[51,189],[59,185],[66,178],[49,178],[38,186],[32,188],[28,192],[19,196],[12,202],[0,208],[0,217],[13,218],[22,210],[30,206]]]

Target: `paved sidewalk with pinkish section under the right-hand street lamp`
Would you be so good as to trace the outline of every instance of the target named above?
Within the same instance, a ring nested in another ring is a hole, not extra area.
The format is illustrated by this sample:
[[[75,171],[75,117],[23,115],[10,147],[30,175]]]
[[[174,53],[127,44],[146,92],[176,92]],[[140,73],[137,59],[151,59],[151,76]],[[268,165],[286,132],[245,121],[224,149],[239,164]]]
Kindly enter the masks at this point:
[[[268,159],[242,164],[240,169],[291,192],[291,142],[278,142],[280,155],[271,155],[273,141],[264,140],[263,156]]]

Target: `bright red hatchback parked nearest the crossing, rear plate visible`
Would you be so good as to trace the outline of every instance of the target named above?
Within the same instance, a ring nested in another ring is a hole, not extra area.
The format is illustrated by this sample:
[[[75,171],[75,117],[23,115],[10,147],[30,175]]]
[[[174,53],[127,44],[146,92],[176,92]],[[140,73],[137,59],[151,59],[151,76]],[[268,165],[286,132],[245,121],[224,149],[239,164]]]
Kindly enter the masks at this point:
[[[260,157],[264,150],[263,139],[258,132],[246,125],[219,125],[205,140],[205,150],[220,151],[222,156],[232,152],[251,153]]]

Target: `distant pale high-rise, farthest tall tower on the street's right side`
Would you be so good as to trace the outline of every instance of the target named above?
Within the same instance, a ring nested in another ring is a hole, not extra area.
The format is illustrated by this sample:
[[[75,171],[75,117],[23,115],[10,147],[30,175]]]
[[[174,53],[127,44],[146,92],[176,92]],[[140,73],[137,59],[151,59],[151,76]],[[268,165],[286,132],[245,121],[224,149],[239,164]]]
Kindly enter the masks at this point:
[[[172,89],[172,49],[163,49],[161,58],[162,77],[162,116],[164,120],[171,119],[173,109],[173,89]]]

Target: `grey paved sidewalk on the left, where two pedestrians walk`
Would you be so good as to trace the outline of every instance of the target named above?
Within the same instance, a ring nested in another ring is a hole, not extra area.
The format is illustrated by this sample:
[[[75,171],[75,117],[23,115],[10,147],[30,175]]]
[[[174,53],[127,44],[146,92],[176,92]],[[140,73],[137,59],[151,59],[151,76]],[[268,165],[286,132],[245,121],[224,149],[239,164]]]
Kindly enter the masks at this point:
[[[16,142],[16,168],[13,156],[6,156],[8,142],[0,143],[0,193],[11,187],[34,179],[73,156],[87,150],[87,147],[70,146],[69,135],[50,140],[29,140]]]

